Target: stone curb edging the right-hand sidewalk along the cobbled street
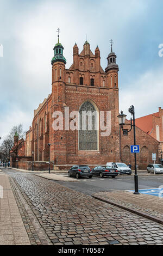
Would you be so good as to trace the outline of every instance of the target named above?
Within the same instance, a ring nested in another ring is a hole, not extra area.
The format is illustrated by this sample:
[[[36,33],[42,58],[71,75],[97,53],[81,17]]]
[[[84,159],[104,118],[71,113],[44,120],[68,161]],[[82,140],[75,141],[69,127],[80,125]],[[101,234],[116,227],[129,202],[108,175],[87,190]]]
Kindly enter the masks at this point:
[[[118,204],[118,203],[112,202],[111,200],[104,199],[103,197],[93,196],[93,194],[92,194],[92,197],[95,198],[95,199],[97,199],[97,200],[100,200],[100,201],[102,201],[102,202],[105,202],[105,203],[108,203],[108,204],[117,206],[118,208],[121,208],[121,209],[123,209],[123,210],[132,212],[133,214],[137,214],[137,215],[139,215],[139,216],[148,218],[149,220],[158,222],[159,224],[163,224],[163,219],[161,219],[161,218],[157,218],[157,217],[155,217],[155,216],[146,214],[145,212],[138,211],[138,210],[135,210],[135,209],[133,209],[133,208],[124,206],[124,205],[122,205],[122,204]]]

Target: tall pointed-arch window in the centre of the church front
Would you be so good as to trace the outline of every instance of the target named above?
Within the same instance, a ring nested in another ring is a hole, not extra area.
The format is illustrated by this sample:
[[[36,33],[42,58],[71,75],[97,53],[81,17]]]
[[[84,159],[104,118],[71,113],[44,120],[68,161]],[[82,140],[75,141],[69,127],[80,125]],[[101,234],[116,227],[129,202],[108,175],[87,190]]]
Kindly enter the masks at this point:
[[[84,102],[82,107],[80,107],[79,150],[98,150],[98,137],[96,128],[98,120],[96,113],[97,112],[95,107],[89,101]]]

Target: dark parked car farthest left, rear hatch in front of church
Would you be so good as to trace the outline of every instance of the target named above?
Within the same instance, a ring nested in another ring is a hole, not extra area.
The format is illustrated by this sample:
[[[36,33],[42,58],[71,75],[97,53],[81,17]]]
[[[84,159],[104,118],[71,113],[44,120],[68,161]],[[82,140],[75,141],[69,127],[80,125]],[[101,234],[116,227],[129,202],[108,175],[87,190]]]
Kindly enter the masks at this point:
[[[77,179],[81,177],[89,177],[92,178],[92,170],[89,166],[73,166],[70,170],[68,170],[68,177],[76,177]]]

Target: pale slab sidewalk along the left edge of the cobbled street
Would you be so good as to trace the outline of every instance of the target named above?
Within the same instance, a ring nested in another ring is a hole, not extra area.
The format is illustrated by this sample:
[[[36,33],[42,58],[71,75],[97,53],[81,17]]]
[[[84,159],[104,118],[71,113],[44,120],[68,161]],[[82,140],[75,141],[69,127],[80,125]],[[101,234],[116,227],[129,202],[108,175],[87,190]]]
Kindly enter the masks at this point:
[[[0,174],[0,185],[0,245],[30,245],[8,175]]]

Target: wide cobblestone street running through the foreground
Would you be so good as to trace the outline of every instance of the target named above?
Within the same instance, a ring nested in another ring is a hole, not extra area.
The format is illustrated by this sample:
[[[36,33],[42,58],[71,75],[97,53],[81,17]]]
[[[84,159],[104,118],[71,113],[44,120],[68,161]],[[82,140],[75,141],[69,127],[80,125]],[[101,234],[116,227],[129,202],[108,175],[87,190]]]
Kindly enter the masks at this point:
[[[163,245],[161,224],[39,176],[24,173],[10,176],[13,188],[17,191],[20,188],[40,225],[37,229],[45,234],[49,244]],[[27,219],[28,212],[23,216]]]

